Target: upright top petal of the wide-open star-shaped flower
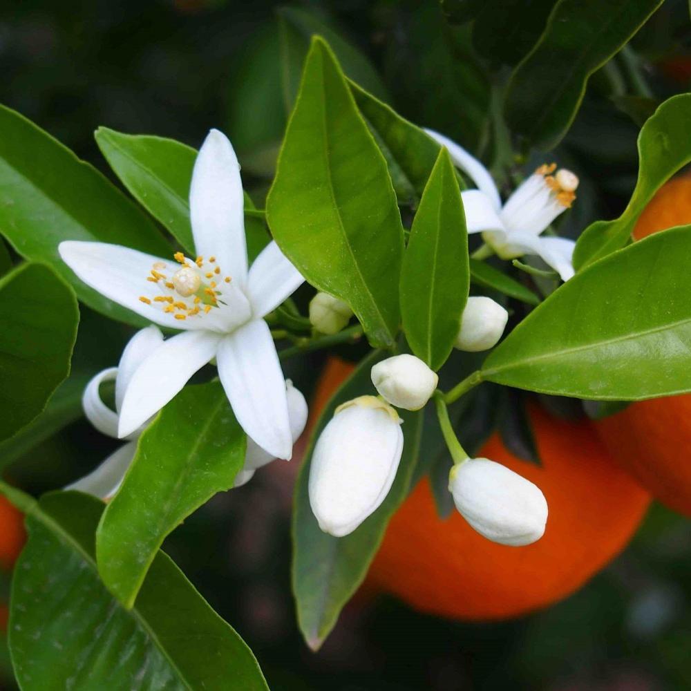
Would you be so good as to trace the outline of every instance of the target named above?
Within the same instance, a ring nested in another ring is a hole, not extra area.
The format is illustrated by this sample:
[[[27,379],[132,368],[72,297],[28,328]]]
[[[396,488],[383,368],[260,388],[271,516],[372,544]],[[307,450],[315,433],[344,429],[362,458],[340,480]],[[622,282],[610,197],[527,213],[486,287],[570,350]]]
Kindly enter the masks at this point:
[[[194,163],[189,214],[197,254],[216,257],[224,276],[247,282],[245,199],[240,164],[228,138],[212,129]]]

